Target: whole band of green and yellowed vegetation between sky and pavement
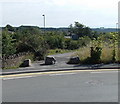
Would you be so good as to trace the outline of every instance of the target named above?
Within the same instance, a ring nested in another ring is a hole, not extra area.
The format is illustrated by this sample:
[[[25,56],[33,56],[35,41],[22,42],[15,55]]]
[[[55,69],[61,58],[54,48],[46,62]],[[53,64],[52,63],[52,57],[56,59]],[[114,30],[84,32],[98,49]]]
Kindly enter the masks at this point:
[[[65,38],[77,35],[78,39]],[[97,33],[79,22],[70,25],[68,31],[45,31],[34,26],[2,28],[2,56],[31,52],[34,60],[47,54],[64,53],[79,49],[76,55],[81,63],[120,62],[120,37],[114,33]]]

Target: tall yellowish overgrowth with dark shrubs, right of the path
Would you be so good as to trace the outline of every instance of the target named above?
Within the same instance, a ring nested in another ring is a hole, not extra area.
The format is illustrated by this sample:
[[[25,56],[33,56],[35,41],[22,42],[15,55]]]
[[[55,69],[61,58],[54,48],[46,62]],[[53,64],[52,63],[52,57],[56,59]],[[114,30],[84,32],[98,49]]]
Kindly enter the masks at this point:
[[[117,33],[100,34],[97,39],[90,41],[85,47],[81,47],[75,55],[84,64],[120,63],[120,38]]]

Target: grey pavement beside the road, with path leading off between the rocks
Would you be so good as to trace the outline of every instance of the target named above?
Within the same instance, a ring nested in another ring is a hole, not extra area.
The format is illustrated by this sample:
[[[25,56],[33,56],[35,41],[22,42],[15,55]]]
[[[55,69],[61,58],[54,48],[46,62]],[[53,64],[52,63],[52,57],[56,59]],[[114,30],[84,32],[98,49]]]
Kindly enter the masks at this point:
[[[22,74],[22,73],[35,73],[35,72],[49,72],[49,71],[68,71],[68,70],[95,70],[95,69],[119,69],[117,63],[111,64],[95,64],[95,65],[70,65],[66,64],[73,52],[52,55],[56,58],[57,62],[54,65],[44,65],[43,61],[35,61],[30,67],[22,67],[18,69],[5,69],[2,70],[2,75],[9,74]]]

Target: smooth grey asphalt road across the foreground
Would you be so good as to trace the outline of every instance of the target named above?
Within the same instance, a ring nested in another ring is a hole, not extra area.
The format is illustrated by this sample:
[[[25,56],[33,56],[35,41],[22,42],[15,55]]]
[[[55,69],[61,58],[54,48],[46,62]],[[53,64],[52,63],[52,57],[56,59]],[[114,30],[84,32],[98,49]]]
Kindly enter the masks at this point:
[[[118,71],[68,71],[4,76],[3,102],[117,102]]]

